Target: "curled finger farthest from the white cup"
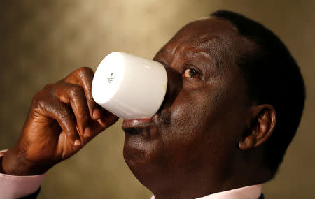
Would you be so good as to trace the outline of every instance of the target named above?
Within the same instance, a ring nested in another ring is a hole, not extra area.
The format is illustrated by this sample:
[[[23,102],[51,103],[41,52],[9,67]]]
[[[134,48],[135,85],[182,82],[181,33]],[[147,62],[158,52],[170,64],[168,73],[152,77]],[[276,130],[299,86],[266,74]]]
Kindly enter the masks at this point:
[[[76,122],[74,121],[71,110],[66,107],[64,103],[57,98],[50,98],[50,101],[41,101],[41,108],[45,114],[57,120],[62,131],[66,132],[66,138],[73,146],[80,146],[80,136],[76,129]]]

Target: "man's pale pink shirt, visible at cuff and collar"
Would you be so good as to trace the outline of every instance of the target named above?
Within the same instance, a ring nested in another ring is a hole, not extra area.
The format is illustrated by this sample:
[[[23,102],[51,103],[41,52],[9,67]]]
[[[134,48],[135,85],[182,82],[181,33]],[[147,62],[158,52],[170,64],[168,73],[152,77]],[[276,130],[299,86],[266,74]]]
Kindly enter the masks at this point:
[[[0,151],[0,159],[6,150]],[[11,199],[21,198],[34,193],[41,186],[45,174],[15,176],[0,173],[0,198]],[[209,196],[196,199],[257,199],[261,194],[262,185],[244,186],[239,189],[232,189],[219,193],[213,193]],[[151,199],[155,199],[154,196]]]

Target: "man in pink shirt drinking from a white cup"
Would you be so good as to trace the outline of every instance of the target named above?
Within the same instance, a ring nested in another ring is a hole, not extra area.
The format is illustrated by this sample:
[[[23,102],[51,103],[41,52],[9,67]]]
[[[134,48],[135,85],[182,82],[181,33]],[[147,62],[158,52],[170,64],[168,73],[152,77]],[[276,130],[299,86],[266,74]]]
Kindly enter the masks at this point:
[[[223,10],[187,24],[154,60],[167,68],[165,101],[152,119],[123,122],[124,158],[137,179],[156,199],[263,198],[304,107],[285,45]],[[41,174],[117,121],[92,100],[92,77],[80,68],[34,96],[20,139],[3,152],[3,196],[36,197]],[[33,185],[18,186],[21,175],[34,175]]]

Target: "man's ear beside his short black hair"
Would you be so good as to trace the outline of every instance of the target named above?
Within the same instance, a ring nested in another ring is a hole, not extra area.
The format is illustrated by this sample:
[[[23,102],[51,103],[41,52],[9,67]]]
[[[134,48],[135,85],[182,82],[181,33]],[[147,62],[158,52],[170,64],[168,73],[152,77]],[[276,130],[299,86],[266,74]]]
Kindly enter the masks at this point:
[[[239,149],[248,150],[265,142],[276,126],[276,110],[269,104],[255,105],[252,108],[253,117],[248,133],[239,142]]]

